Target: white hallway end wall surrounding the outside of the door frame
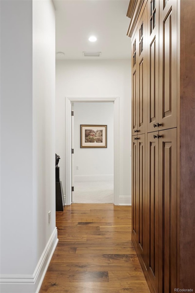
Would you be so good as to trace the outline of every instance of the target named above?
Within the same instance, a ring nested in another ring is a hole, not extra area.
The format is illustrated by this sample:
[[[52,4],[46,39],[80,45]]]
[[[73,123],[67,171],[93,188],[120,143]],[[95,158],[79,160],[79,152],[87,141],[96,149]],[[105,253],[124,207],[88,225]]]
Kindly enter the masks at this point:
[[[130,48],[130,39],[129,39]],[[56,152],[65,190],[65,97],[119,96],[119,204],[131,203],[130,60],[56,61]]]

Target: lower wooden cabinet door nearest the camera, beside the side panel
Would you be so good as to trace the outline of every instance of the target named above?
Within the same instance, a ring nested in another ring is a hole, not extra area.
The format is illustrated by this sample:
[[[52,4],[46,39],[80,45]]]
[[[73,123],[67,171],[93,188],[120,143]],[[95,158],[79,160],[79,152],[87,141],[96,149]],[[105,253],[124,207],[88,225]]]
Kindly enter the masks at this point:
[[[159,293],[172,293],[177,288],[177,129],[159,134]]]

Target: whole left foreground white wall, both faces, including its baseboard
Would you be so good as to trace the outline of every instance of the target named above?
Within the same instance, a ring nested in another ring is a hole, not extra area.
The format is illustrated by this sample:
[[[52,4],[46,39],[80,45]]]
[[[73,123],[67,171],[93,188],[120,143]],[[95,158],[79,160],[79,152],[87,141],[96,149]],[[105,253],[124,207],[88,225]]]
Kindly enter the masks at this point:
[[[51,1],[0,5],[0,291],[35,293],[57,244],[55,11]]]

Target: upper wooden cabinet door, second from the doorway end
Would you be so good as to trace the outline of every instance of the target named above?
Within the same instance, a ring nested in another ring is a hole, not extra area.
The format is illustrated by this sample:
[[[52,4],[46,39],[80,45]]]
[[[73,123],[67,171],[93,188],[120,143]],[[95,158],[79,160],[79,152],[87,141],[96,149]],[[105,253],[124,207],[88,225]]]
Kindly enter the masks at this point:
[[[146,62],[146,9],[137,27],[139,47],[137,51],[137,130],[145,133],[147,107],[147,62]]]

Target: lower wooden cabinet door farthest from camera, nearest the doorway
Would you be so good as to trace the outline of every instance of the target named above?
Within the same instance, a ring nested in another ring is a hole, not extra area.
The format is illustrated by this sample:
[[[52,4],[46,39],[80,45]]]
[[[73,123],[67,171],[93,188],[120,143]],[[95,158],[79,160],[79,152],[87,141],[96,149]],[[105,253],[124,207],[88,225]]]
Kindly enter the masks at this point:
[[[132,236],[138,239],[138,202],[137,202],[137,136],[132,136]]]

